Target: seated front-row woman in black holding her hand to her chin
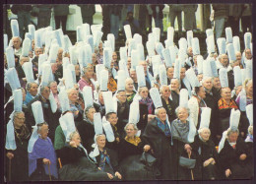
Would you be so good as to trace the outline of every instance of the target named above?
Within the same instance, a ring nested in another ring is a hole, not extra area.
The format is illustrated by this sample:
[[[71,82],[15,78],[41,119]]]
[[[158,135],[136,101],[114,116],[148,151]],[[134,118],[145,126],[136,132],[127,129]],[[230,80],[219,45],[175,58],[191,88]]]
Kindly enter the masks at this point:
[[[70,141],[60,150],[62,168],[59,177],[62,181],[100,181],[110,180],[110,174],[99,170],[96,163],[90,159],[87,151],[81,147],[78,132],[69,136]]]

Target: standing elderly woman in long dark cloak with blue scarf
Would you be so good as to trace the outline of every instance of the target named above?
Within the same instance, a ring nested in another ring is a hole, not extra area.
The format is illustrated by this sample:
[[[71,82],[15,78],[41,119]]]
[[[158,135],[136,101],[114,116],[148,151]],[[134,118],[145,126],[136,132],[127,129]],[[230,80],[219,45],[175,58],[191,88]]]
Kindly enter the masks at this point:
[[[160,170],[158,179],[173,179],[171,133],[169,122],[166,121],[166,110],[160,107],[155,110],[157,115],[146,126],[142,139],[153,149],[153,155],[157,158],[156,166]]]

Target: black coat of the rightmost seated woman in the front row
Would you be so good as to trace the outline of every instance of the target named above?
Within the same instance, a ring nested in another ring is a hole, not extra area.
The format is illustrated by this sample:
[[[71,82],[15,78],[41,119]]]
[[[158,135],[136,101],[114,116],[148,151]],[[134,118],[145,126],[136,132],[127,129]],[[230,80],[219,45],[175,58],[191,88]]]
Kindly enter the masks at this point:
[[[225,140],[224,148],[219,153],[219,156],[223,175],[226,169],[229,168],[231,170],[228,179],[249,179],[252,177],[253,167],[250,164],[250,159],[246,157],[245,160],[240,160],[239,156],[242,153],[249,154],[248,148],[242,139],[237,139],[235,149]]]

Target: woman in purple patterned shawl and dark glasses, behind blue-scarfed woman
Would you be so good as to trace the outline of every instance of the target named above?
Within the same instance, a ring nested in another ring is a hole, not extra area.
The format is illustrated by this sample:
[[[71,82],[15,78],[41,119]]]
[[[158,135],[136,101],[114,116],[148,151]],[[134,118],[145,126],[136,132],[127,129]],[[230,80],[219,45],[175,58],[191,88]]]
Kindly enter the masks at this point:
[[[148,122],[152,121],[156,115],[153,114],[155,111],[155,106],[153,100],[149,97],[148,88],[140,87],[139,95],[141,96],[141,99],[139,100],[140,121],[138,122],[138,128],[143,134]]]

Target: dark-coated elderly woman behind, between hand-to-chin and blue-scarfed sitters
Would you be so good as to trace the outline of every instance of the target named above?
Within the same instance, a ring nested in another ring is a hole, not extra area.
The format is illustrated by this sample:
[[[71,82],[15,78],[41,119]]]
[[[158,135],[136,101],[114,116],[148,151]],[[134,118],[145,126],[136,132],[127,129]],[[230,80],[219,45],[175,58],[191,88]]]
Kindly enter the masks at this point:
[[[96,109],[94,106],[88,106],[84,112],[83,121],[78,122],[77,129],[81,136],[82,145],[90,153],[92,151],[92,145],[94,144],[95,138],[95,125],[94,125],[94,114]]]

